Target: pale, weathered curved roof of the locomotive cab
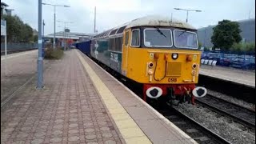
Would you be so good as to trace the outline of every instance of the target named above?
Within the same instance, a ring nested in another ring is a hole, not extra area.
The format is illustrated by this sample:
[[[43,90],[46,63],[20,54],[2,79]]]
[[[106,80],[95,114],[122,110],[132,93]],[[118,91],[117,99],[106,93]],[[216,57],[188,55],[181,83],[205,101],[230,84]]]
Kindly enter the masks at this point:
[[[136,26],[171,26],[171,27],[196,30],[194,26],[191,26],[187,22],[180,21],[176,18],[169,18],[169,17],[160,16],[160,15],[150,15],[150,16],[134,19],[131,22],[126,22],[110,30],[103,31],[102,33],[94,36],[94,38],[102,38],[110,35],[113,35],[113,36],[120,35],[122,34],[122,31],[124,29],[136,27]]]

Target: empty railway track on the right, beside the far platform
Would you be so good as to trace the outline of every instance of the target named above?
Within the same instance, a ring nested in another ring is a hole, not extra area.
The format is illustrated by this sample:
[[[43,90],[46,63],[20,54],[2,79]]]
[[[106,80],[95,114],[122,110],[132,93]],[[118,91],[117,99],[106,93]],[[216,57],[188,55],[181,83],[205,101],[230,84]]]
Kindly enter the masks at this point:
[[[255,130],[254,110],[228,102],[222,98],[216,98],[210,94],[207,94],[204,98],[196,99],[196,102],[210,110],[214,110],[218,114],[231,118],[234,122],[242,123],[242,125]]]

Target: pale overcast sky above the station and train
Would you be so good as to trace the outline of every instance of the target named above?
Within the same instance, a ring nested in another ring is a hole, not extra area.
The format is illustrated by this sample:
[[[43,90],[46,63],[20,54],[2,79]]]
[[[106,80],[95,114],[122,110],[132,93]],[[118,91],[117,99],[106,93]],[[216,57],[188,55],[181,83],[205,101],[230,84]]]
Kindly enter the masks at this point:
[[[38,30],[38,0],[2,0],[14,9],[22,21]],[[255,18],[255,0],[42,0],[42,2],[66,5],[56,6],[56,32],[94,33],[94,6],[96,6],[96,30],[101,33],[135,18],[158,14],[173,16],[186,22],[186,11],[174,8],[202,10],[188,14],[190,25],[201,28],[217,25],[218,21],[238,21]],[[42,19],[46,23],[45,34],[54,33],[54,6],[42,5]],[[62,21],[62,22],[57,22]]]

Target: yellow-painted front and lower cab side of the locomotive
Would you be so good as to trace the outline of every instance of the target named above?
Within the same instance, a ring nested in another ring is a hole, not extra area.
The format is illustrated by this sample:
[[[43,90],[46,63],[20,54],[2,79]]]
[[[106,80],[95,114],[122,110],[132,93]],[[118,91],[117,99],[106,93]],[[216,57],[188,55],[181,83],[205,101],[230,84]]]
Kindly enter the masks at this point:
[[[136,82],[141,83],[197,83],[199,64],[201,51],[198,50],[161,50],[161,49],[146,49],[146,48],[134,48],[128,47],[127,51],[127,67],[126,67],[126,77],[133,79]],[[178,59],[174,60],[171,58],[172,53],[178,53]],[[154,58],[154,54],[158,54],[158,64],[156,68],[157,60]],[[167,55],[167,59],[165,58]],[[186,58],[190,55],[191,62],[188,62]],[[147,62],[153,62],[154,66],[152,70],[155,73],[148,73]],[[166,64],[167,63],[167,64]],[[195,69],[192,65],[196,64]],[[167,66],[167,67],[166,67]],[[195,70],[194,76],[192,75],[192,70]],[[166,71],[166,74],[165,74]],[[163,78],[164,77],[164,78]],[[162,79],[163,78],[163,79]],[[162,80],[160,80],[162,79]],[[177,81],[176,81],[176,80]],[[174,81],[173,81],[174,80]]]

